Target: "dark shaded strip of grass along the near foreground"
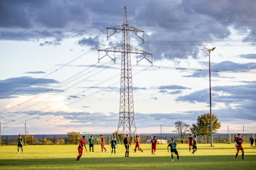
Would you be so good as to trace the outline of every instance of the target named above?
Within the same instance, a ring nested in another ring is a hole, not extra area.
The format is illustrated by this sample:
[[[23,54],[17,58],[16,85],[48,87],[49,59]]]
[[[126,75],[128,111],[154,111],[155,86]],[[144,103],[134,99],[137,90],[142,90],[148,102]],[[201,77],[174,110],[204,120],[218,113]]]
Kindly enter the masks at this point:
[[[69,169],[76,170],[81,168],[86,169],[122,169],[122,170],[144,170],[157,167],[157,169],[171,169],[170,166],[175,166],[175,169],[236,169],[238,166],[251,168],[256,166],[255,155],[245,156],[246,160],[241,159],[241,154],[238,159],[235,156],[180,156],[180,161],[177,156],[174,156],[174,161],[170,156],[140,156],[140,157],[100,157],[88,158],[87,155],[82,156],[80,161],[76,158],[60,158],[60,159],[0,159],[0,169]]]

